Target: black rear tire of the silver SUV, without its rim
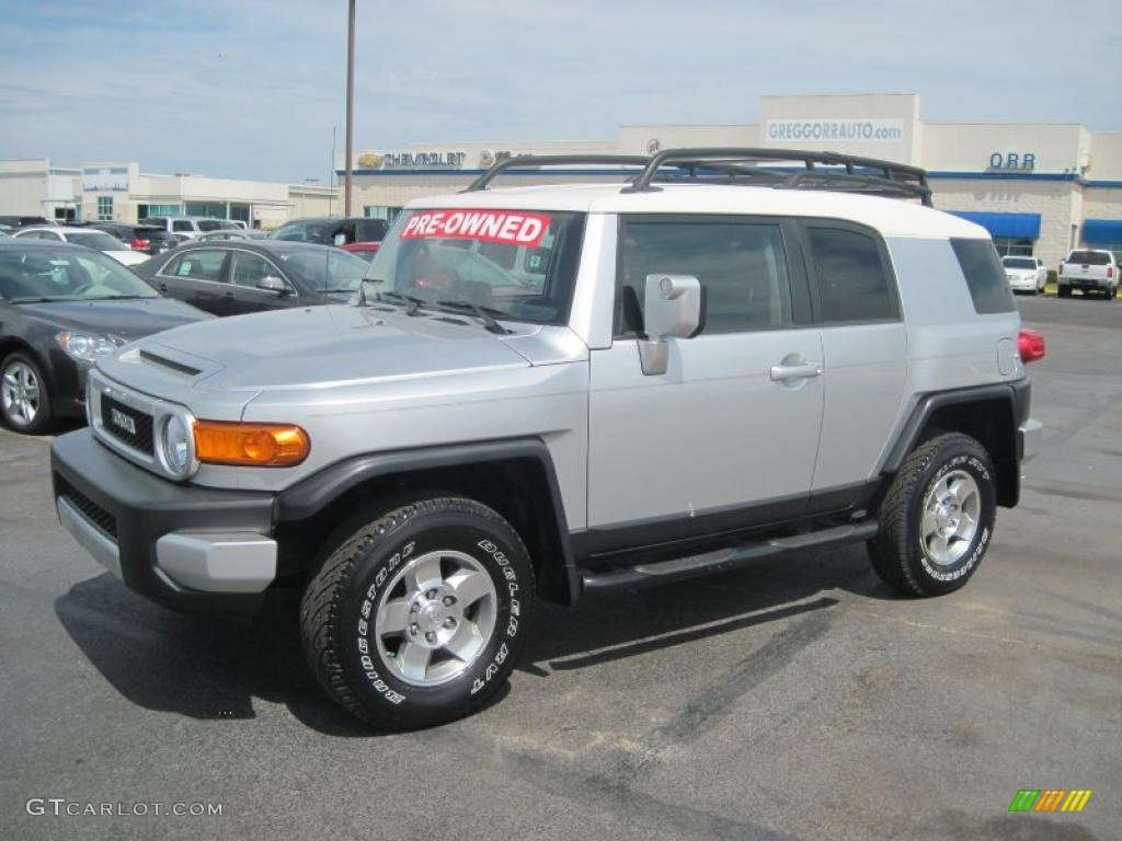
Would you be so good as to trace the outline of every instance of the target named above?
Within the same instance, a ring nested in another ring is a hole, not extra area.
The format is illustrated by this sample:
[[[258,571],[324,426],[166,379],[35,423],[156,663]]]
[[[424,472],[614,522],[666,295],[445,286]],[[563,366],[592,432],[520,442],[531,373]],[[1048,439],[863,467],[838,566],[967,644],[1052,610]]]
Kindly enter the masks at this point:
[[[977,490],[973,536],[962,540],[962,555],[940,565],[923,539],[923,503],[946,477],[963,473]],[[977,441],[944,434],[917,447],[893,478],[877,512],[880,530],[868,542],[873,570],[884,583],[905,595],[941,595],[958,590],[977,571],[990,546],[996,518],[993,462]]]

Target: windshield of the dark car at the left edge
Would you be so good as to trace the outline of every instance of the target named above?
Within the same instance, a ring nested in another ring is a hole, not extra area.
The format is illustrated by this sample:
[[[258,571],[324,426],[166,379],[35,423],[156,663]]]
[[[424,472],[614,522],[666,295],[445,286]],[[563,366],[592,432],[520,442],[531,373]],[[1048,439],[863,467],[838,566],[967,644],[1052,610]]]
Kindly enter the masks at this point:
[[[117,260],[74,248],[0,250],[0,296],[9,301],[159,297]]]

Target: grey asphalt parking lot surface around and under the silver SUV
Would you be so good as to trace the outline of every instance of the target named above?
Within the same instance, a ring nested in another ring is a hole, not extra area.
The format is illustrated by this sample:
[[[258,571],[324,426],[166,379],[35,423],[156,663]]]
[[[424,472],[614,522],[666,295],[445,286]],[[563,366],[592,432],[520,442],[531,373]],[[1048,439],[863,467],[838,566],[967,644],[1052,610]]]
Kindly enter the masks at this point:
[[[410,734],[335,709],[293,623],[123,590],[57,525],[49,442],[0,432],[0,837],[1118,838],[1122,302],[1019,303],[1045,452],[965,590],[896,598],[849,548],[588,599]],[[52,797],[222,814],[28,814]]]

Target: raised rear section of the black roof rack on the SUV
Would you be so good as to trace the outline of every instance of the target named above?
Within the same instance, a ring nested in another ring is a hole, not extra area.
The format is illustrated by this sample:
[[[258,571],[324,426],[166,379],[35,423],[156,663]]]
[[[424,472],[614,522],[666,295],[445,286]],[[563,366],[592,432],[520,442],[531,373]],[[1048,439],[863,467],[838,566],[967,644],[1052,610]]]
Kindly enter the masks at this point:
[[[696,172],[697,167],[708,167],[718,170],[734,170],[745,175],[754,165],[763,161],[792,163],[801,161],[803,169],[797,178],[789,179],[784,185],[789,188],[809,186],[808,176],[818,178],[826,176],[821,183],[829,181],[829,186],[843,187],[845,179],[861,179],[863,184],[891,191],[885,195],[905,195],[918,197],[928,207],[931,206],[931,188],[927,182],[927,172],[919,167],[896,164],[891,160],[864,158],[856,155],[843,155],[835,151],[806,151],[800,149],[764,149],[764,148],[712,148],[712,149],[664,149],[647,159],[643,172],[628,186],[625,193],[642,193],[659,190],[652,182],[660,169],[669,166],[688,167]],[[746,166],[747,165],[747,166]],[[819,166],[843,167],[845,173],[821,170]],[[875,170],[879,175],[856,172],[861,169]],[[760,173],[767,170],[760,169]],[[693,176],[697,177],[697,176]],[[873,181],[868,181],[873,179]],[[855,182],[856,185],[856,182]]]

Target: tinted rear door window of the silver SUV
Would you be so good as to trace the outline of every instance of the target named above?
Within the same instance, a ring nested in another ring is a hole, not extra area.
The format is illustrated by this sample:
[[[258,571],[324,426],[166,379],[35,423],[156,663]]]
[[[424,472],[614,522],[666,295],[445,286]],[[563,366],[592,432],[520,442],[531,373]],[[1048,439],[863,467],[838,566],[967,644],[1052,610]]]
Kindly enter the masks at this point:
[[[808,228],[824,322],[900,317],[890,275],[875,239],[840,228]],[[1004,274],[1002,275],[1004,278]]]

